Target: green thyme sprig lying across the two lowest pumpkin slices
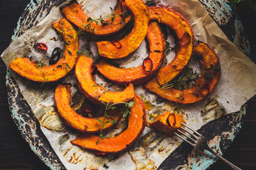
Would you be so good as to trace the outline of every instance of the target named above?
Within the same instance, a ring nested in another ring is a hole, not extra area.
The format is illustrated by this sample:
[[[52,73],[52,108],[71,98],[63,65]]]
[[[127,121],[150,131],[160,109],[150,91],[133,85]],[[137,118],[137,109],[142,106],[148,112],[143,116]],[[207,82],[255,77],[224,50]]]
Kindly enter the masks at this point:
[[[110,115],[108,115],[107,112],[110,111],[110,110],[116,109],[116,108],[117,108],[117,105],[122,104],[123,106],[122,106],[121,109],[124,111],[124,113],[123,113],[122,116],[123,116],[123,118],[125,118],[127,115],[129,115],[129,114],[131,113],[131,112],[129,111],[129,108],[132,108],[132,106],[134,106],[134,102],[133,102],[133,101],[130,101],[129,103],[127,103],[127,102],[117,102],[117,103],[113,103],[113,104],[107,103],[107,102],[103,102],[103,101],[102,101],[102,103],[105,105],[105,112],[104,112],[104,118],[103,118],[103,120],[96,119],[96,120],[98,120],[98,121],[101,123],[101,125],[102,125],[102,126],[101,126],[101,129],[100,129],[100,135],[99,135],[99,138],[98,138],[96,144],[99,142],[100,138],[101,138],[102,140],[105,138],[105,135],[103,134],[103,128],[105,127],[105,125],[106,125],[107,123],[112,123],[112,124],[117,123],[116,120],[106,121],[106,118],[110,118]]]

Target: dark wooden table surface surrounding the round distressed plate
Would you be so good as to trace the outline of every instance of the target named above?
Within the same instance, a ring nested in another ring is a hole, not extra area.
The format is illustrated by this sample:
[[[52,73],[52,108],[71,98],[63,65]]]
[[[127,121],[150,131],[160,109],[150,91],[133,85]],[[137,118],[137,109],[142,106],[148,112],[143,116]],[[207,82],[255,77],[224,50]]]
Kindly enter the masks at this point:
[[[30,0],[0,0],[0,52],[11,42],[17,21]],[[238,5],[238,14],[247,31],[252,54],[256,59],[256,11],[248,8],[246,2]],[[0,62],[0,169],[48,169],[31,151],[11,119],[5,85],[6,67]],[[256,75],[255,75],[256,76]],[[255,84],[256,86],[256,84]],[[224,157],[241,169],[256,169],[256,96],[248,103],[242,129]],[[221,161],[210,167],[231,169]]]

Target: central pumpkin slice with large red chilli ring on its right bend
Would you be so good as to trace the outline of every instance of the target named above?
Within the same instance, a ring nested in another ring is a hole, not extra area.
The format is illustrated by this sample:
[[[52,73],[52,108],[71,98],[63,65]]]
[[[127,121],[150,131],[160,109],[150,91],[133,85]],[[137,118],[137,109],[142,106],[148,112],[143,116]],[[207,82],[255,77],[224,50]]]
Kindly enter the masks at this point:
[[[117,84],[142,84],[144,81],[151,79],[156,71],[161,67],[164,59],[164,39],[158,23],[155,21],[149,23],[149,29],[146,34],[149,41],[149,57],[145,60],[150,60],[152,64],[149,72],[144,71],[143,65],[136,68],[118,68],[107,62],[101,60],[97,64],[97,70],[107,79],[114,81]],[[144,60],[144,61],[145,61]]]

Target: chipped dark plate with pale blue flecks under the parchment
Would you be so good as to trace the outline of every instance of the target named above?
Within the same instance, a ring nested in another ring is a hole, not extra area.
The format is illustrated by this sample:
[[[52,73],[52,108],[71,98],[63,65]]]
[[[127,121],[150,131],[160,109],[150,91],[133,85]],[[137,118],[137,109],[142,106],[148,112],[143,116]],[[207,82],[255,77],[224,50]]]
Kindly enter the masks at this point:
[[[51,8],[62,4],[64,1],[65,0],[31,1],[19,18],[18,26],[12,39],[18,38],[19,35],[29,28],[36,26],[36,24],[50,12]],[[238,15],[232,11],[230,6],[225,4],[225,0],[199,1],[206,7],[210,16],[228,38],[234,42],[245,55],[252,57],[250,45],[245,31],[242,28],[242,24],[238,19]],[[225,11],[225,13],[223,11]],[[63,166],[60,159],[58,159],[58,156],[53,151],[45,135],[43,135],[38,120],[23,98],[16,81],[11,77],[9,72],[6,74],[6,86],[11,117],[14,119],[23,138],[28,142],[33,152],[35,152],[50,169],[65,169],[65,166]],[[213,120],[203,125],[198,132],[210,141],[210,147],[222,155],[238,134],[245,113],[245,106],[243,106],[239,113],[231,113],[223,118]],[[213,128],[215,132],[212,132]],[[192,149],[183,142],[166,158],[159,166],[159,169],[207,169],[217,158],[208,151],[204,152],[207,152],[207,154]]]

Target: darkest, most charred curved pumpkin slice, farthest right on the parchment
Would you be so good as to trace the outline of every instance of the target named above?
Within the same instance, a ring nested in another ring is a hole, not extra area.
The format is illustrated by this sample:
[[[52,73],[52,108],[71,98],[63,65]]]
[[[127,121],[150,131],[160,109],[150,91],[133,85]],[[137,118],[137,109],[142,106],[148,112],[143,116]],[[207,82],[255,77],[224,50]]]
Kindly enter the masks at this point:
[[[196,81],[196,85],[192,86],[191,89],[184,91],[174,88],[161,89],[156,78],[146,82],[144,87],[169,101],[177,103],[195,103],[206,98],[213,91],[220,77],[220,61],[215,52],[206,43],[197,42],[193,52],[202,57],[202,73]]]

